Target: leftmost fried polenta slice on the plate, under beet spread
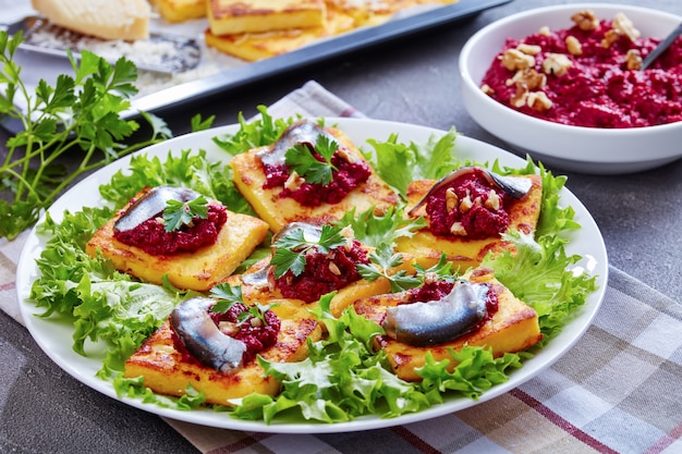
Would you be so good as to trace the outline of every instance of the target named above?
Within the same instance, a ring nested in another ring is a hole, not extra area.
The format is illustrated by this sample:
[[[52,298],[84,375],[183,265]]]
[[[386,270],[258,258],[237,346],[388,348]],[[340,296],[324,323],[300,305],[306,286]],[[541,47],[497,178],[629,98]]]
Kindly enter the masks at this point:
[[[137,194],[135,199],[143,194]],[[230,275],[268,233],[268,224],[260,219],[228,210],[228,220],[215,244],[191,253],[151,255],[113,236],[113,225],[127,206],[95,232],[85,251],[90,257],[101,254],[117,270],[159,285],[168,275],[170,283],[178,289],[206,291]]]

